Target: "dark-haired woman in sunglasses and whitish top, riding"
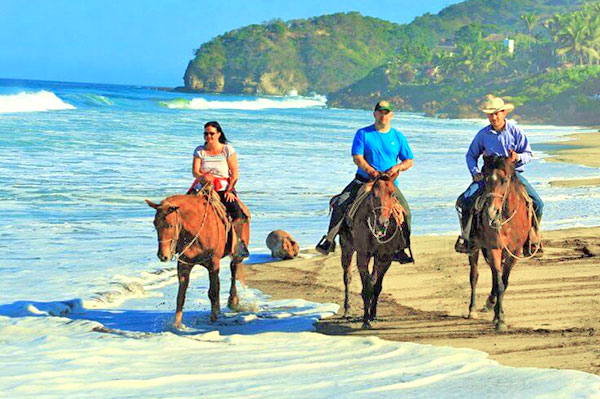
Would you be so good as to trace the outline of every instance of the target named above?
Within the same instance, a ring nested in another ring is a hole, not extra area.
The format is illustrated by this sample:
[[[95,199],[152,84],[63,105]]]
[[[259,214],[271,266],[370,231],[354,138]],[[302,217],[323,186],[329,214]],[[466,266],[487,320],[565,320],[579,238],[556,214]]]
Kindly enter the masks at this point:
[[[207,182],[215,186],[240,239],[235,252],[239,256],[248,257],[247,243],[241,238],[243,226],[248,223],[248,219],[237,202],[235,192],[235,184],[239,178],[237,154],[227,142],[219,122],[207,122],[204,125],[204,144],[194,150],[192,174],[197,181],[193,186],[194,190],[199,190]]]

